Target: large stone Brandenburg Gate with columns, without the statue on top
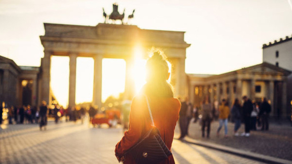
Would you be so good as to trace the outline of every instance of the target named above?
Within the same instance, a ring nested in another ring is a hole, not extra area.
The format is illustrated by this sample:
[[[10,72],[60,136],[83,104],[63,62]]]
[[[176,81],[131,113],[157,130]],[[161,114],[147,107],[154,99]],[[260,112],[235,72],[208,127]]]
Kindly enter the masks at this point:
[[[99,23],[96,26],[79,26],[44,23],[45,34],[40,36],[44,47],[41,59],[38,104],[42,100],[51,102],[50,67],[51,56],[69,56],[69,106],[75,105],[76,58],[92,57],[94,59],[93,105],[101,107],[102,93],[102,59],[118,58],[126,61],[125,97],[133,97],[133,81],[130,68],[133,65],[137,47],[147,58],[151,47],[160,48],[172,65],[171,84],[175,96],[186,96],[187,82],[185,67],[186,48],[184,32],[140,29],[135,25],[117,25]]]

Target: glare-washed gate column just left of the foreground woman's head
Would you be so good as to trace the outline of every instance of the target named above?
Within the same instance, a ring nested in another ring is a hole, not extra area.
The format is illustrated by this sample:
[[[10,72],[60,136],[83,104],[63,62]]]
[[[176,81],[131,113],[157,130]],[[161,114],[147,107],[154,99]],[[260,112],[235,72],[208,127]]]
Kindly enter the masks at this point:
[[[134,97],[135,83],[132,78],[132,68],[134,61],[132,58],[126,59],[126,83],[125,83],[125,99],[132,99]]]

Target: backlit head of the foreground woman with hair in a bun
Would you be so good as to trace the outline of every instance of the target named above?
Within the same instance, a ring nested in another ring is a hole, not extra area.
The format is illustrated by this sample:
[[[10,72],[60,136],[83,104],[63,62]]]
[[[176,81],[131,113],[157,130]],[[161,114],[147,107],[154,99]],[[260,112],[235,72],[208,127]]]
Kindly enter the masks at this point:
[[[146,62],[146,84],[143,92],[148,96],[173,97],[172,86],[167,82],[170,73],[166,57],[161,50],[155,50]]]

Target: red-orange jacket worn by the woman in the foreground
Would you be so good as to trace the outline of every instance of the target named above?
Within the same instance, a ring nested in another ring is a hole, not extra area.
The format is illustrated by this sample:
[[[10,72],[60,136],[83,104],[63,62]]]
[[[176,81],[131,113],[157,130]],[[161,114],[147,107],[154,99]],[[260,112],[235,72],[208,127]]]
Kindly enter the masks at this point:
[[[179,119],[181,103],[177,98],[153,98],[149,97],[150,108],[155,126],[161,133],[167,148],[171,150],[174,129]],[[117,143],[115,153],[118,159],[138,142],[143,134],[151,129],[150,116],[146,105],[145,96],[135,97],[131,104],[129,116],[129,129],[124,137]],[[127,155],[124,164],[135,164],[134,159]],[[160,164],[174,164],[173,156],[162,161]]]

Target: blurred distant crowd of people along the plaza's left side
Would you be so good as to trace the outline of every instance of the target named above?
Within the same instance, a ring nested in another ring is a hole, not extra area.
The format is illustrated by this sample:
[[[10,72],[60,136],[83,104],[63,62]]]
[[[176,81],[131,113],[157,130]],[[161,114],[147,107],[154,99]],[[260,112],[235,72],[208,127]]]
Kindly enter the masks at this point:
[[[6,105],[5,108],[0,107],[0,124],[3,121],[2,114],[7,113],[9,124],[39,124],[40,130],[42,130],[43,127],[46,129],[48,117],[55,119],[56,124],[62,120],[76,122],[78,119],[83,123],[86,113],[92,119],[96,115],[97,110],[92,106],[88,107],[88,109],[79,106],[64,109],[58,104],[49,106],[46,101],[42,101],[39,107],[31,107],[30,105],[7,107]]]

